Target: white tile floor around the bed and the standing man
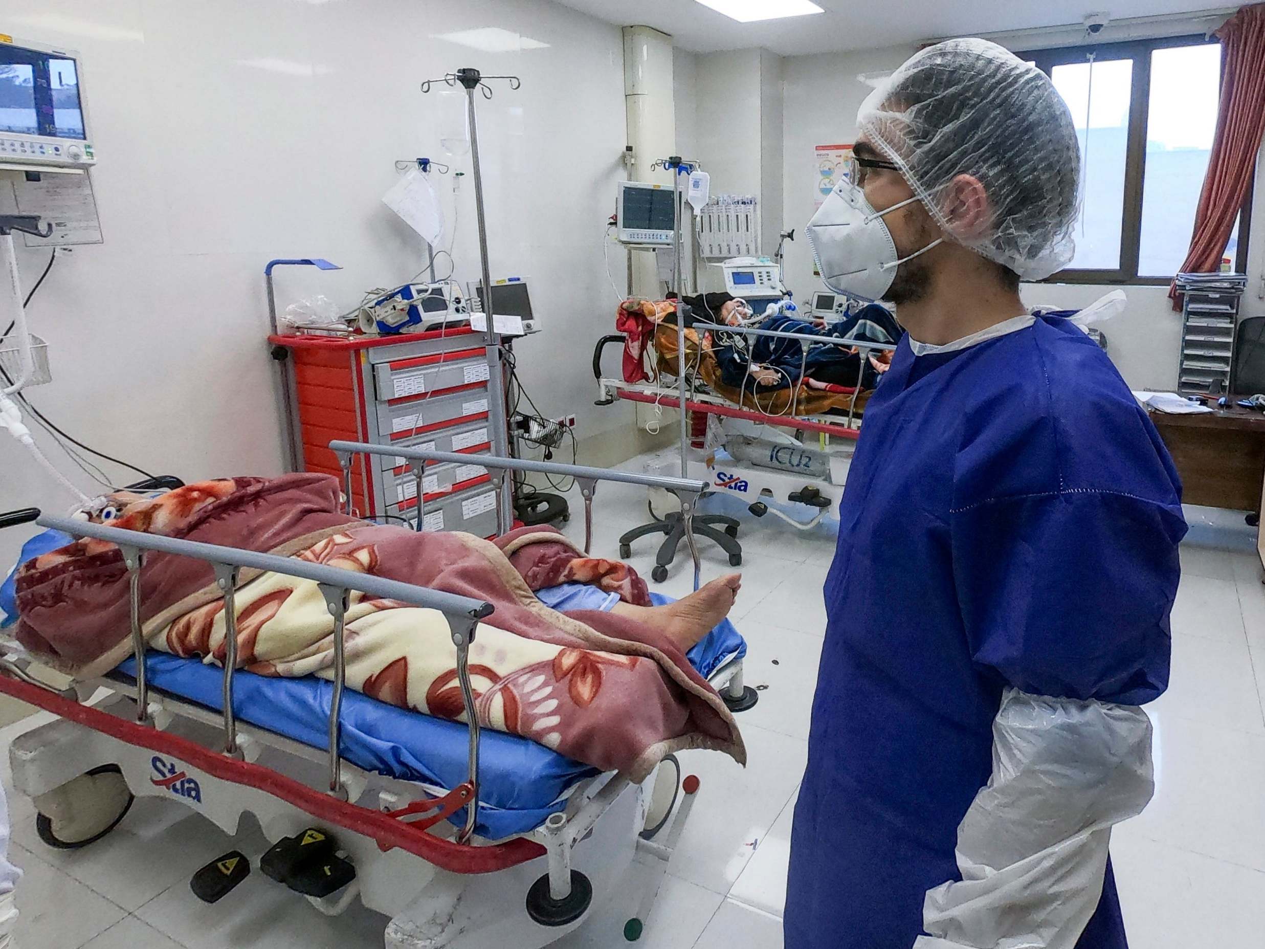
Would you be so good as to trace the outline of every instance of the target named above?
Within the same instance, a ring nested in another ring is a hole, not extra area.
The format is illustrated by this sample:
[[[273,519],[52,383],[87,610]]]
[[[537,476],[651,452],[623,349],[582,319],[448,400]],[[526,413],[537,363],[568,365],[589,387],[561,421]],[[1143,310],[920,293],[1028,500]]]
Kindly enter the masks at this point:
[[[596,511],[593,552],[614,555],[616,537],[644,519],[644,495],[602,485]],[[582,534],[582,520],[573,518],[568,531]],[[748,683],[765,687],[759,705],[740,717],[750,763],[743,769],[716,754],[683,755],[702,787],[639,943],[646,949],[782,945],[791,820],[832,540],[772,520],[744,521],[749,563],[734,611],[750,644]],[[1242,531],[1219,534],[1213,523],[1200,524],[1195,535],[1202,543],[1228,538],[1231,549],[1183,552],[1173,683],[1150,709],[1156,796],[1112,841],[1133,949],[1265,944],[1265,587]],[[653,539],[635,545],[632,563],[644,576],[655,547]],[[702,553],[705,577],[729,569],[715,547],[705,544]],[[689,586],[686,555],[658,588],[681,595]],[[0,731],[0,745],[14,728]],[[8,782],[8,754],[0,754],[0,774]],[[357,906],[329,920],[266,881],[248,882],[215,907],[199,903],[188,891],[190,872],[234,841],[176,806],[147,800],[114,834],[76,853],[38,840],[29,801],[11,798],[10,807],[13,858],[27,871],[18,891],[24,949],[381,945],[383,917]],[[247,853],[262,848],[257,830],[235,844]],[[649,871],[635,864],[632,873],[644,878]],[[626,893],[636,892],[632,882]],[[595,910],[562,949],[625,944],[626,902]]]

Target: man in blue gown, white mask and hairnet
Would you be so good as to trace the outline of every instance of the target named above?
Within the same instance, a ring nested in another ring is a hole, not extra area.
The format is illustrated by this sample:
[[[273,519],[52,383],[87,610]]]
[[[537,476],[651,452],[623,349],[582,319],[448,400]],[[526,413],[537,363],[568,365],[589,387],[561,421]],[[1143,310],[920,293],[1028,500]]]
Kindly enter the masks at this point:
[[[1152,792],[1185,523],[1107,356],[1020,301],[1071,258],[1071,116],[953,40],[858,129],[810,237],[906,335],[839,512],[786,945],[1123,949],[1107,845]]]

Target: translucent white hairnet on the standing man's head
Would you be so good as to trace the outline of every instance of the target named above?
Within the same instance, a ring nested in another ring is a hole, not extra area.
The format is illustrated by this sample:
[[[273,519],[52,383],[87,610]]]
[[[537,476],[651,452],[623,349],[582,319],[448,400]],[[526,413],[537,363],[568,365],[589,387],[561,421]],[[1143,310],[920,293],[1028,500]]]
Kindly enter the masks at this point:
[[[911,57],[861,104],[856,128],[897,164],[945,234],[1025,280],[1071,259],[1080,146],[1049,77],[983,39]],[[941,192],[958,175],[984,185],[992,223],[960,233]]]

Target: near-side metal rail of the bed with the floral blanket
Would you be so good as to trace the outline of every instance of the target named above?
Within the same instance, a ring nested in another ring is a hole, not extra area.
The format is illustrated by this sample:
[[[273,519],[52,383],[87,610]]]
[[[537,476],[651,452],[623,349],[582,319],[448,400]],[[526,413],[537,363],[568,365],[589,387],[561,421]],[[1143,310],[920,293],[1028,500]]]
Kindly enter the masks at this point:
[[[343,688],[347,668],[344,653],[344,621],[349,606],[349,591],[358,590],[373,596],[416,606],[439,610],[448,620],[453,645],[457,647],[457,677],[462,692],[462,706],[471,733],[469,778],[471,800],[467,803],[466,828],[459,840],[466,841],[474,831],[478,816],[478,739],[479,724],[474,709],[474,692],[469,678],[469,645],[474,640],[474,629],[479,619],[488,616],[493,606],[482,600],[447,593],[439,590],[401,583],[400,581],[376,577],[367,573],[339,569],[320,563],[310,563],[293,557],[277,557],[256,550],[242,550],[218,544],[204,544],[196,540],[145,534],[138,530],[110,528],[68,518],[42,516],[35,521],[42,528],[61,530],[71,537],[89,537],[118,545],[128,568],[128,607],[132,626],[132,648],[137,657],[137,720],[148,721],[148,683],[145,677],[145,639],[140,624],[140,569],[144,552],[166,553],[177,557],[192,557],[211,564],[216,585],[224,597],[225,616],[225,658],[224,658],[224,753],[240,760],[237,744],[237,724],[233,711],[233,673],[237,666],[237,617],[234,615],[234,596],[239,573],[243,568],[271,571],[300,580],[314,581],[330,615],[334,617],[334,693],[329,714],[329,792],[339,800],[345,800],[340,768],[340,723]]]

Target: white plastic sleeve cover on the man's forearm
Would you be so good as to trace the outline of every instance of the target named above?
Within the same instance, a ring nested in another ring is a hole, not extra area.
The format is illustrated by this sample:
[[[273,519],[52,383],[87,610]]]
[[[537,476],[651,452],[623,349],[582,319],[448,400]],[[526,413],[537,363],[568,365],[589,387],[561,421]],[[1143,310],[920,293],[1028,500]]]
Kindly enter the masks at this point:
[[[1074,949],[1098,906],[1111,828],[1155,788],[1137,706],[1006,690],[993,774],[958,826],[960,882],[927,892],[915,949]]]

